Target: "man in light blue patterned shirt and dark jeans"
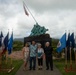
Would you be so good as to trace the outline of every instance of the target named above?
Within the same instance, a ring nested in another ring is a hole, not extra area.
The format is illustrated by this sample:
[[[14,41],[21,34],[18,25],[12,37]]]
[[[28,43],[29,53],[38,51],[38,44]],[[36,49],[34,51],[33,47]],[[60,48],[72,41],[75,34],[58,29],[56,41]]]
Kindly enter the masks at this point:
[[[30,67],[29,70],[36,69],[36,54],[37,54],[37,45],[35,41],[32,41],[30,45]]]

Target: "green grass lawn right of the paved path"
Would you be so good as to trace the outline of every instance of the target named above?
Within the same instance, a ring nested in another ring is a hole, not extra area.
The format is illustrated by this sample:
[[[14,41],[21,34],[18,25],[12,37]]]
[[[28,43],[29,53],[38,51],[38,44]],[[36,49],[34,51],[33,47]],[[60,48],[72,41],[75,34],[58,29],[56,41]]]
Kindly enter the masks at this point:
[[[68,73],[65,72],[65,70],[64,70],[65,60],[54,60],[54,64],[60,70],[60,72],[62,73],[62,75],[76,75],[76,72],[73,72],[73,71],[68,72]],[[70,66],[70,64],[68,64],[68,67],[69,66]],[[75,63],[73,63],[73,68],[76,69]]]

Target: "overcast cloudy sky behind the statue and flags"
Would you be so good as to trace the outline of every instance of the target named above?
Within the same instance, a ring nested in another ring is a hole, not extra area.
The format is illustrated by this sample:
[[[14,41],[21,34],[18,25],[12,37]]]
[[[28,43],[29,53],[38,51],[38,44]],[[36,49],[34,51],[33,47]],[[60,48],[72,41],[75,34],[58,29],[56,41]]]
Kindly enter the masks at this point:
[[[14,38],[29,36],[35,21],[25,15],[23,0],[0,0],[0,31],[14,32]],[[45,26],[53,38],[65,30],[76,34],[76,0],[24,0],[38,24]],[[28,11],[28,10],[27,10]]]

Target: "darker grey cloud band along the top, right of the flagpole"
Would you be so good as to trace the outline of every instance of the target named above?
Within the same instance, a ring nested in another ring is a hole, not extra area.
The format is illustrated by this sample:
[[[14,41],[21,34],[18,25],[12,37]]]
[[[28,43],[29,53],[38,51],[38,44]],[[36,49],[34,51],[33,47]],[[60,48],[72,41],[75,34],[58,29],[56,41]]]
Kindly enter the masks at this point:
[[[44,12],[58,9],[76,9],[76,0],[24,0],[25,3],[36,12]]]

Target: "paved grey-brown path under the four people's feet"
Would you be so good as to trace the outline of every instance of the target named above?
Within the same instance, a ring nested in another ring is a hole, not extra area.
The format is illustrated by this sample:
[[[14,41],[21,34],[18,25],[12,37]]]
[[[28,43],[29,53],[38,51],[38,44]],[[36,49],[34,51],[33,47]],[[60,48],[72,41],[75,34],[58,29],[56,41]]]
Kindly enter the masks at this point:
[[[23,71],[23,65],[22,65],[21,68],[17,71],[16,75],[62,75],[59,72],[59,70],[55,67],[55,65],[53,71],[46,70],[45,65],[43,67],[44,67],[43,70],[38,70],[38,68],[36,68],[35,71],[33,70],[29,71],[27,67],[27,70]]]

